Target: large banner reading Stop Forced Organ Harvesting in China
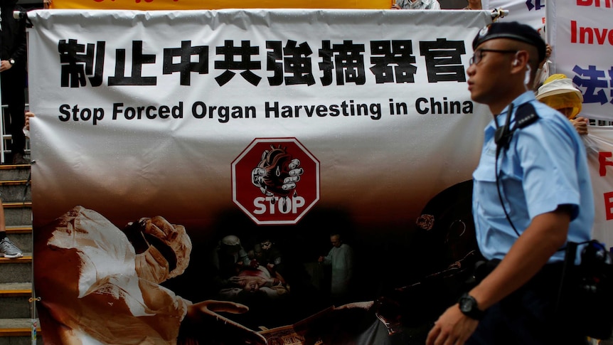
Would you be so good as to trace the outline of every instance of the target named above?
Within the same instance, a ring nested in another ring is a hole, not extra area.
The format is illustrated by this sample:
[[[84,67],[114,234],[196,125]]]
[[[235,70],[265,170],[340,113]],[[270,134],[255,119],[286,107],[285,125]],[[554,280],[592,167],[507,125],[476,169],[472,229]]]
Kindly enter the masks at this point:
[[[403,287],[473,258],[487,11],[29,16],[46,344],[407,344],[455,299]]]

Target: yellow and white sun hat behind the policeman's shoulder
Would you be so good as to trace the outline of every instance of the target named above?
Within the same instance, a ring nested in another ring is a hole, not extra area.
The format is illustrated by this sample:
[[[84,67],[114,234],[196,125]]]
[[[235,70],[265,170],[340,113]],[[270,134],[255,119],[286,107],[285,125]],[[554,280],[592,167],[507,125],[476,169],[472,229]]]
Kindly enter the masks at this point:
[[[538,88],[536,99],[555,110],[572,108],[568,116],[572,119],[581,112],[583,95],[566,75],[554,74],[545,79],[543,85]]]

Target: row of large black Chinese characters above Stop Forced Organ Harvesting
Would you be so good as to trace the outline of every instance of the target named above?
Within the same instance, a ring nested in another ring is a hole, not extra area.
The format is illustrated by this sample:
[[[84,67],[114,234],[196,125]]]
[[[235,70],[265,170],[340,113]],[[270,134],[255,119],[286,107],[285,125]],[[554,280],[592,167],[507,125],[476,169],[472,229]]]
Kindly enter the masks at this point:
[[[265,54],[265,70],[267,84],[279,85],[314,85],[316,83],[313,65],[321,71],[319,83],[324,86],[335,83],[344,85],[353,83],[366,84],[366,68],[374,77],[373,83],[415,83],[417,72],[416,57],[412,48],[412,40],[369,41],[355,43],[346,40],[342,43],[331,43],[325,40],[317,44],[314,53],[309,42],[288,40],[266,41],[262,46],[251,41],[225,40],[223,46],[193,46],[192,41],[181,41],[181,47],[164,48],[161,56],[161,73],[171,75],[177,73],[179,85],[191,85],[192,73],[196,75],[209,74],[209,51],[218,57],[213,61],[215,83],[223,86],[230,82],[238,73],[253,86],[257,86],[262,77],[257,75],[262,68],[260,57]],[[465,82],[466,73],[462,65],[462,56],[466,55],[464,41],[448,41],[437,38],[436,41],[415,42],[420,48],[419,55],[425,60],[425,68],[429,83],[442,81]],[[365,61],[365,52],[371,55],[370,61]],[[61,86],[98,87],[105,77],[106,42],[80,43],[75,39],[58,41],[60,63],[62,65]],[[144,64],[156,64],[155,54],[143,53],[143,41],[132,41],[129,53],[132,60],[126,61],[126,48],[117,48],[110,57],[114,61],[114,75],[106,80],[108,86],[118,85],[157,85],[155,75],[143,76]],[[195,59],[196,62],[192,62]],[[314,63],[315,60],[315,63]],[[176,61],[176,62],[175,62]],[[126,76],[126,65],[131,66]],[[160,71],[159,71],[160,72]],[[107,73],[112,74],[112,73]]]

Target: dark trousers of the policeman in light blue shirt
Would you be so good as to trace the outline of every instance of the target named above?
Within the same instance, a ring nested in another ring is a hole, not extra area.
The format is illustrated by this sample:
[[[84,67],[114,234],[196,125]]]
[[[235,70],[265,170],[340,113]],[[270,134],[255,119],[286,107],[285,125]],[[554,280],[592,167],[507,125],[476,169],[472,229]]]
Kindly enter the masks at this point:
[[[546,265],[530,282],[489,308],[467,344],[587,344],[586,336],[559,317],[561,275],[562,265]]]

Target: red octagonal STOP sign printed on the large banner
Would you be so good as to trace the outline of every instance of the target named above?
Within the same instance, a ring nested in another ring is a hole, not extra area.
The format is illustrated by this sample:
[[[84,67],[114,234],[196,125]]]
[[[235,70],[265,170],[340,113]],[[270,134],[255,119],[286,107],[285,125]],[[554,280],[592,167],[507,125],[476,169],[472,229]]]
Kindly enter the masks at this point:
[[[257,224],[295,224],[319,201],[319,161],[295,138],[260,138],[232,162],[232,199]]]

